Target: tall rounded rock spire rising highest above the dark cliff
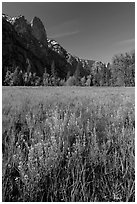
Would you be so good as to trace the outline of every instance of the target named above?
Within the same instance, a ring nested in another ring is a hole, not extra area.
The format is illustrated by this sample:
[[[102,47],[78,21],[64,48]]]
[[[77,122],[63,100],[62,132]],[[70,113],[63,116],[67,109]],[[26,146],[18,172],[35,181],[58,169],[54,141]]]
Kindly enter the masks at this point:
[[[42,21],[38,17],[34,17],[31,21],[32,35],[47,47],[47,34]]]

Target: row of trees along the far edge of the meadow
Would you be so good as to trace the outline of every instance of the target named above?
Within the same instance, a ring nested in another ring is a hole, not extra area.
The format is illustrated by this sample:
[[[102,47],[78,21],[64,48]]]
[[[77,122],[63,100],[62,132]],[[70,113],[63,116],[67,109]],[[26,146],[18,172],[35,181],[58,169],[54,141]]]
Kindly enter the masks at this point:
[[[36,73],[23,72],[20,67],[8,69],[3,79],[5,86],[135,86],[135,51],[115,55],[112,63],[95,62],[89,74],[82,76],[82,63],[78,62],[75,73],[68,72],[66,79],[58,77],[56,66],[51,64],[51,74],[45,72],[42,77]]]

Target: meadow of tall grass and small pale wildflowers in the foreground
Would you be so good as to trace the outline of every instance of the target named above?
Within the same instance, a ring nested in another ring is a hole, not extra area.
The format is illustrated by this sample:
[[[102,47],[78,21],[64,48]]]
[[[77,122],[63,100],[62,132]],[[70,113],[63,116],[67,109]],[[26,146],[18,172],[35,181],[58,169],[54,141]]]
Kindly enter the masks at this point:
[[[135,201],[135,89],[3,87],[3,201]]]

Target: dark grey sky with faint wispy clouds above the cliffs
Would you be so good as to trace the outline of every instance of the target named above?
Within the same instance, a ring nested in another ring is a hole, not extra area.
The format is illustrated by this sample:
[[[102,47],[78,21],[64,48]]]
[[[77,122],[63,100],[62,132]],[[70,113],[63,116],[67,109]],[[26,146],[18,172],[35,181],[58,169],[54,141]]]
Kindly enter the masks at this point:
[[[28,21],[39,17],[48,38],[83,59],[107,63],[135,48],[133,2],[4,2],[2,12]]]

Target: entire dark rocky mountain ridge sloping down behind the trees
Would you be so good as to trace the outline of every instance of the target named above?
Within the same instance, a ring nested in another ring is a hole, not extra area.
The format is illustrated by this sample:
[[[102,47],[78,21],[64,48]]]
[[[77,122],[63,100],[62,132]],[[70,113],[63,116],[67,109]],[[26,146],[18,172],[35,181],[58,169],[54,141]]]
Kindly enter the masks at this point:
[[[19,66],[23,71],[36,72],[42,76],[45,68],[50,73],[54,61],[59,77],[74,74],[78,62],[82,65],[82,75],[88,74],[93,60],[83,60],[69,54],[55,40],[47,39],[43,23],[34,17],[29,23],[24,16],[2,15],[2,69],[3,77],[7,67]]]

